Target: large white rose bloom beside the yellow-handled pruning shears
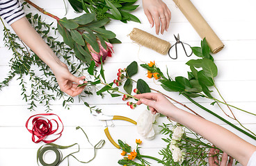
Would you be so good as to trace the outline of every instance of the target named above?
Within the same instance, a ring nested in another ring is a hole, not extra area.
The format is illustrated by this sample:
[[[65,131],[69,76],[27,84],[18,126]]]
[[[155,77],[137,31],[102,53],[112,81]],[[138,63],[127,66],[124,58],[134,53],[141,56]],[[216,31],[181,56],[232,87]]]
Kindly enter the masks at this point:
[[[158,117],[158,114],[153,115],[147,110],[144,110],[143,113],[141,113],[137,120],[137,131],[141,136],[147,139],[154,138],[155,131],[153,128],[153,122]]]

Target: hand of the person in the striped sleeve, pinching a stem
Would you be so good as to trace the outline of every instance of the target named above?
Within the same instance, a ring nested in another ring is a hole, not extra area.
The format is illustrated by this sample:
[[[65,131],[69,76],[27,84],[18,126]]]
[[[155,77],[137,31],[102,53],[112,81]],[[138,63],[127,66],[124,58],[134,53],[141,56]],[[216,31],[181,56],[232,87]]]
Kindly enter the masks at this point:
[[[83,91],[85,86],[77,86],[79,84],[86,83],[86,81],[83,81],[83,79],[85,79],[86,77],[75,77],[70,73],[67,65],[63,64],[62,62],[60,65],[51,68],[51,70],[54,72],[61,91],[67,93],[67,95],[74,97],[76,95],[79,95]]]

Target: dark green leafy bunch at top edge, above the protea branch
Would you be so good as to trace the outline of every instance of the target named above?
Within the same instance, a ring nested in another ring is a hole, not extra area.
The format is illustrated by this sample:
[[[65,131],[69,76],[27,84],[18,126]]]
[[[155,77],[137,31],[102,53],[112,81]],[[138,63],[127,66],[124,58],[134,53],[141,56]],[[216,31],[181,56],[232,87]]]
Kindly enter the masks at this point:
[[[85,11],[86,13],[95,12],[97,20],[106,18],[117,19],[124,23],[127,21],[141,21],[129,12],[138,8],[134,5],[137,0],[68,0],[76,12]]]

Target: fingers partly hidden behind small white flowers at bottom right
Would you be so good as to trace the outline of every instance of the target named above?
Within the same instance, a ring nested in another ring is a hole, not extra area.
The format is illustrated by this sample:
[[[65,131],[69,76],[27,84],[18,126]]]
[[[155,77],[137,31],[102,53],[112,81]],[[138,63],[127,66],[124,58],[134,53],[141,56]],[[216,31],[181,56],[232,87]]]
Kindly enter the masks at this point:
[[[233,158],[230,156],[227,156],[225,152],[223,152],[222,158],[221,158],[221,163],[218,161],[218,157],[216,154],[218,154],[219,150],[211,148],[209,151],[209,166],[232,166],[233,164]],[[229,160],[227,158],[229,157]]]

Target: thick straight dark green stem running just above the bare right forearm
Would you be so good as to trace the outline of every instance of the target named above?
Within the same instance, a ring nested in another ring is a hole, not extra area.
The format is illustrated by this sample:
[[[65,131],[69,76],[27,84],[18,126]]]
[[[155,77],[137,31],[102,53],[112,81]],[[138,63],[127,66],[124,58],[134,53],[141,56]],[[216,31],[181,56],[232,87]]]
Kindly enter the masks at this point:
[[[250,138],[253,138],[253,140],[256,140],[256,137],[253,136],[252,134],[250,134],[250,133],[244,131],[243,129],[241,129],[241,128],[239,128],[239,127],[237,127],[236,125],[234,125],[234,124],[232,124],[231,122],[225,120],[225,119],[222,118],[221,116],[218,116],[218,114],[216,114],[216,113],[214,113],[213,111],[211,111],[211,110],[209,110],[209,109],[203,107],[201,104],[198,104],[198,102],[195,102],[195,100],[189,98],[188,95],[186,95],[186,94],[184,94],[184,93],[182,93],[182,95],[184,95],[184,97],[187,98],[189,101],[193,102],[193,104],[195,104],[196,106],[198,106],[198,107],[200,107],[201,109],[207,111],[208,113],[211,113],[211,115],[213,115],[213,116],[215,116],[216,118],[222,120],[223,122],[229,124],[231,127],[234,127],[234,129],[237,129],[238,131],[241,131],[242,133],[246,134],[246,136],[248,136],[248,137],[250,137]]]

